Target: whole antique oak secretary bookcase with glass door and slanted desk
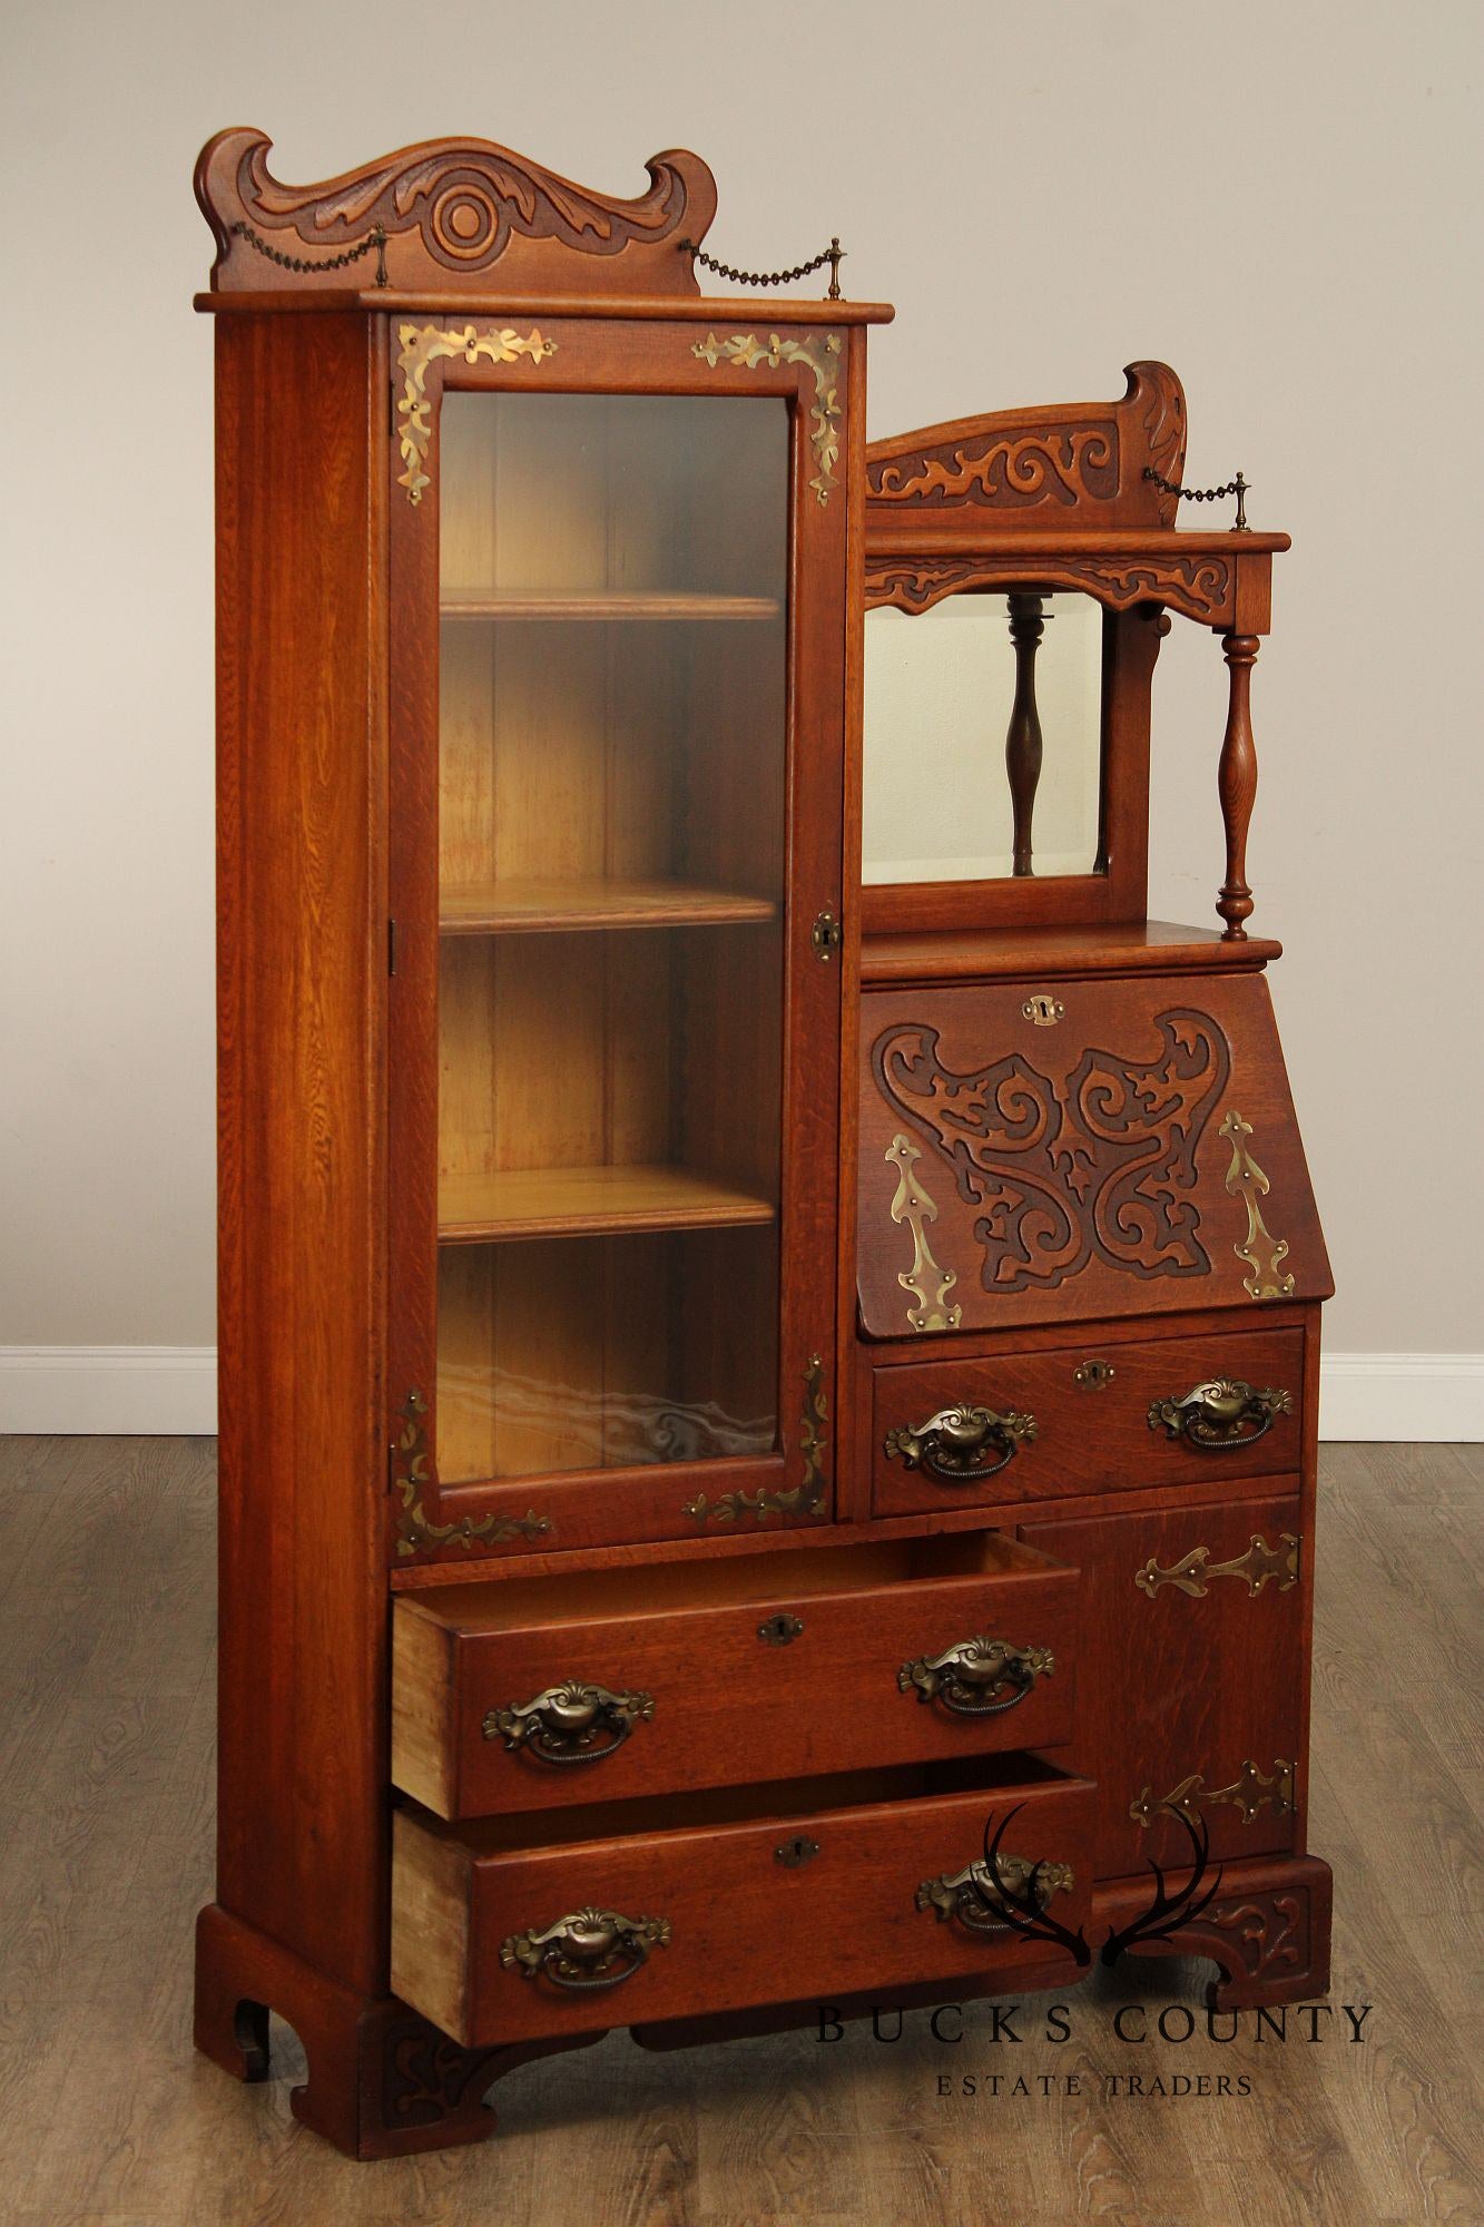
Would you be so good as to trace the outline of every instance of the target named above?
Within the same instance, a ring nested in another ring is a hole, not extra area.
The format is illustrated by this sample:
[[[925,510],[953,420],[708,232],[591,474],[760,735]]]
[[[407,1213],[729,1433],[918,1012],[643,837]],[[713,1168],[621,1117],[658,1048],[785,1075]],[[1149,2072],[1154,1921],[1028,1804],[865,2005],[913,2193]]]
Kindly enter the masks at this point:
[[[201,2049],[261,2078],[279,2011],[385,2156],[615,2024],[1063,1989],[1119,1929],[1324,1993],[1330,1285],[1246,931],[1286,537],[1177,532],[1159,363],[867,445],[889,312],[702,296],[691,154],[267,151],[196,174]],[[1174,619],[1228,666],[1205,931],[1145,918]]]

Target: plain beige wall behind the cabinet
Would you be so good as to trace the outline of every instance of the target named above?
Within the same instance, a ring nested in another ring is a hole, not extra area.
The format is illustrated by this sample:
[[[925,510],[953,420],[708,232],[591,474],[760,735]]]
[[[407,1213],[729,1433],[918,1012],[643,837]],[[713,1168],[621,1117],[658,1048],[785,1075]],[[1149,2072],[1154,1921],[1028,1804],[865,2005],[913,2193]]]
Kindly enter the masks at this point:
[[[7,31],[2,1318],[212,1343],[209,325],[189,169],[258,122],[323,178],[479,131],[613,192],[675,143],[711,245],[831,232],[871,430],[1116,394],[1295,534],[1257,668],[1257,926],[1348,1350],[1484,1350],[1473,0],[1384,7],[80,4]],[[285,439],[292,428],[285,425]],[[1221,873],[1221,659],[1177,624],[1156,909]],[[1473,1194],[1473,1196],[1471,1196]]]

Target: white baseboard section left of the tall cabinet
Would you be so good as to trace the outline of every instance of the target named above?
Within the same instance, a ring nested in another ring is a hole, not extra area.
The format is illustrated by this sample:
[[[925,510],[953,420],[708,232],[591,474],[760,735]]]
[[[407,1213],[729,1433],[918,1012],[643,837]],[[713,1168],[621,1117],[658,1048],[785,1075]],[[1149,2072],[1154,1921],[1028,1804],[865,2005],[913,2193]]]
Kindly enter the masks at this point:
[[[0,1345],[0,1432],[209,1439],[214,1345]]]

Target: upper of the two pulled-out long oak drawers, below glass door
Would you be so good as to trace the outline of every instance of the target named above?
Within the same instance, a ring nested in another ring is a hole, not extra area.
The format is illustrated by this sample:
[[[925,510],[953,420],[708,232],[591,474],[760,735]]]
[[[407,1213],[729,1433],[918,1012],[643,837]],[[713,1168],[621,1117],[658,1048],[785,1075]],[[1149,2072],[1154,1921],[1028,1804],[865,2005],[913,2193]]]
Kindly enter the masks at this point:
[[[448,1586],[394,1608],[392,1779],[479,1817],[1052,1748],[1074,1675],[1076,1570],[1000,1532]]]

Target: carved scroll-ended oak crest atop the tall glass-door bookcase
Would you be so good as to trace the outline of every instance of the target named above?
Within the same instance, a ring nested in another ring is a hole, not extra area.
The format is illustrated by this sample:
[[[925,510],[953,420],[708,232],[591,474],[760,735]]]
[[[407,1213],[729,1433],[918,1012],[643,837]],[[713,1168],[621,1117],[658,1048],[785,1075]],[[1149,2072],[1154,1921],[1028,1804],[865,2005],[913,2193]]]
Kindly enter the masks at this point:
[[[207,140],[196,163],[218,294],[325,285],[330,261],[377,232],[385,283],[403,290],[475,292],[499,263],[501,287],[512,290],[700,292],[680,241],[706,236],[715,180],[684,149],[648,160],[648,192],[635,200],[479,138],[421,140],[321,185],[281,185],[270,149],[265,131],[238,125]],[[363,276],[370,285],[370,261]]]

